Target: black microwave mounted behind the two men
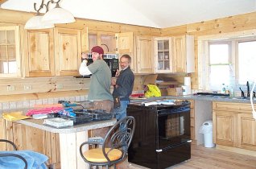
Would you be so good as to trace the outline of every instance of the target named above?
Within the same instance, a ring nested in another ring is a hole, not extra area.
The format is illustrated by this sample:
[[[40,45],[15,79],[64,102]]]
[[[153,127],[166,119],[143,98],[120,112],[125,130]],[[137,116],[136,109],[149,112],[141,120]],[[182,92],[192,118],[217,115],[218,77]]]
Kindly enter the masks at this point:
[[[92,64],[93,63],[92,54],[88,53],[87,56],[88,56],[87,65]],[[112,76],[116,76],[116,72],[119,69],[118,54],[104,54],[103,60],[105,60],[106,64],[109,65]]]

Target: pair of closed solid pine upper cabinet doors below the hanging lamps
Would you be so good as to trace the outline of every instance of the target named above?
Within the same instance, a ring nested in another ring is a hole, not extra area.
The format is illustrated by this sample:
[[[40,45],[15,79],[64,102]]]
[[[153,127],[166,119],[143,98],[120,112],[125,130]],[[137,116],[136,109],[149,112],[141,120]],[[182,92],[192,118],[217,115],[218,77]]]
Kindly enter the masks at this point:
[[[81,30],[29,30],[24,43],[25,76],[79,75]]]

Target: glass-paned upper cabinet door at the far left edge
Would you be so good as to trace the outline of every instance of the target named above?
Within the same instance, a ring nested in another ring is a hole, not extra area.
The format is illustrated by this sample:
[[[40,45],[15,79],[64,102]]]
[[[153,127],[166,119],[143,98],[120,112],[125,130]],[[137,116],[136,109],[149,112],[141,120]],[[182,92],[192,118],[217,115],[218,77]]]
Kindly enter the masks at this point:
[[[0,77],[19,76],[22,76],[19,26],[0,27]]]

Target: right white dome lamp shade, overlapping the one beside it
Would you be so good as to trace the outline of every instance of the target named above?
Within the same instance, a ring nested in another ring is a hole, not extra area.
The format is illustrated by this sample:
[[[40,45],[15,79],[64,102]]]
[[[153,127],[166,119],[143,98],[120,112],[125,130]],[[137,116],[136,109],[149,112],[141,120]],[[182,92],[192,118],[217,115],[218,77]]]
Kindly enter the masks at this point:
[[[47,23],[74,23],[76,21],[68,10],[64,10],[60,7],[55,7],[47,11],[47,13],[43,15],[42,20]]]

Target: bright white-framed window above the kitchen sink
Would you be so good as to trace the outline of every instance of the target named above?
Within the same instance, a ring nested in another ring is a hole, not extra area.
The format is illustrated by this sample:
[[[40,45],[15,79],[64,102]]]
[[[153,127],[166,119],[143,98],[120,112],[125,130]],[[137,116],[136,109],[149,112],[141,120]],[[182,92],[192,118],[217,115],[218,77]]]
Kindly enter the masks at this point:
[[[219,92],[225,84],[246,91],[246,81],[256,79],[256,36],[211,38],[199,39],[199,89]]]

